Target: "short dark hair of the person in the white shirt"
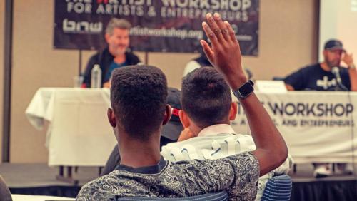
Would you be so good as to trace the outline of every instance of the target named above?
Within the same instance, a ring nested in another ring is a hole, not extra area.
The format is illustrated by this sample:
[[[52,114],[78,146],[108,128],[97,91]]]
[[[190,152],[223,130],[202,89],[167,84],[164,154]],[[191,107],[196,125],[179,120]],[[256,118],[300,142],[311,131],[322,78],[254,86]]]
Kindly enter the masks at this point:
[[[215,68],[201,67],[183,77],[182,109],[201,128],[224,123],[231,103],[231,90]]]

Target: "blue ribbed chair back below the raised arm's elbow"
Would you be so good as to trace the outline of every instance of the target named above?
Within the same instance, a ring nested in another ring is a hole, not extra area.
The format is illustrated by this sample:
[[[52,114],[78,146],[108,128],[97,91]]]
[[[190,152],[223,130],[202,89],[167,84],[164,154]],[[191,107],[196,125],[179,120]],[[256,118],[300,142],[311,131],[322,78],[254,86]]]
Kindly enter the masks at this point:
[[[290,200],[293,182],[288,175],[271,177],[266,183],[261,201],[267,200]]]

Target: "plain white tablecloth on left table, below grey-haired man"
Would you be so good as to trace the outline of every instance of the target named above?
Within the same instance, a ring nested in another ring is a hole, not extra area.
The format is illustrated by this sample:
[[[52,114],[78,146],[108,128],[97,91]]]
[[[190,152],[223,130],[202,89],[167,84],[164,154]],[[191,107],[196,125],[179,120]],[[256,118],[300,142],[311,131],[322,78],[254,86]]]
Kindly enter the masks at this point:
[[[109,89],[39,88],[26,109],[37,129],[50,122],[49,165],[101,166],[116,145],[106,111]]]

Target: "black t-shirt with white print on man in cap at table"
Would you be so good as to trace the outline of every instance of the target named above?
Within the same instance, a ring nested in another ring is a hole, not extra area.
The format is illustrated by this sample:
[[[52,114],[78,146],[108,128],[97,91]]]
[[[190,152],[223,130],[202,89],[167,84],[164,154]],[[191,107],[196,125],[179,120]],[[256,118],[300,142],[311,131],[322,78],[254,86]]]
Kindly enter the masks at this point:
[[[351,91],[348,69],[339,67],[341,80],[344,86]],[[333,73],[321,68],[320,63],[300,68],[284,79],[284,82],[293,86],[295,90],[336,91],[336,78]]]

